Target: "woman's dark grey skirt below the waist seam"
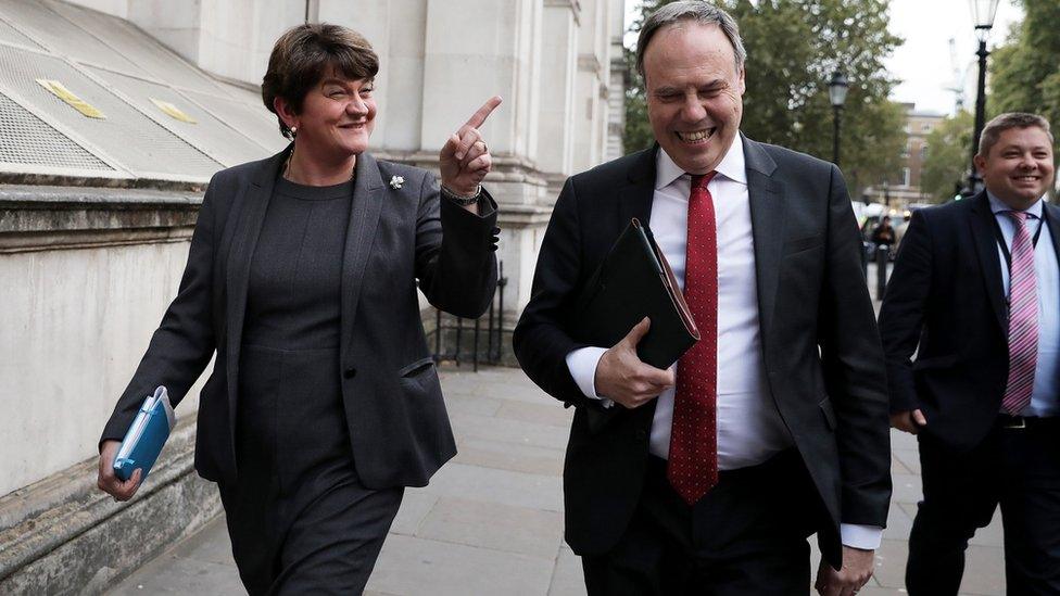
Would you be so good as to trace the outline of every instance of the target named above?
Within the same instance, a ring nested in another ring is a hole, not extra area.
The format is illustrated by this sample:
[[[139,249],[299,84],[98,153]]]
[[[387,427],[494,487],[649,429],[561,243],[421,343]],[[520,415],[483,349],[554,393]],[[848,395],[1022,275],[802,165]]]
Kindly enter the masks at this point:
[[[252,596],[361,594],[404,489],[357,475],[338,351],[243,345],[236,459],[220,485],[232,556]]]

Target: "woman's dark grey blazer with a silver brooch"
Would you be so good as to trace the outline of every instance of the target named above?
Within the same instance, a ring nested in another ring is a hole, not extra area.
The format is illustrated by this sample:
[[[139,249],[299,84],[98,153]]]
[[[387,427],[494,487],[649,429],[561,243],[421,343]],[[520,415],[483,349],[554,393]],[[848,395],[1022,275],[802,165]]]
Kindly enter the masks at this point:
[[[195,469],[232,482],[240,338],[251,258],[290,148],[214,175],[188,265],[147,354],[103,430],[122,440],[144,396],[164,384],[179,402],[217,353],[199,401]],[[402,188],[391,177],[404,178]],[[484,192],[484,191],[483,191]],[[490,214],[440,201],[429,172],[357,157],[342,258],[342,396],[354,461],[369,489],[422,486],[456,453],[420,321],[416,279],[434,306],[462,317],[496,287]],[[444,232],[444,233],[443,233]],[[176,405],[176,404],[175,404]]]

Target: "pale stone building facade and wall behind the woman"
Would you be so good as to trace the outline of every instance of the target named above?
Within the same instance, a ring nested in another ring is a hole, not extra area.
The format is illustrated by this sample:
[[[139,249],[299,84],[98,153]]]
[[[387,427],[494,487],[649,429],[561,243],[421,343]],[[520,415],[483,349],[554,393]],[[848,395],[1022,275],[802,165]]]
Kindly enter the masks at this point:
[[[96,443],[176,292],[204,183],[286,144],[258,85],[306,20],[379,53],[377,156],[436,168],[504,98],[483,134],[505,331],[563,181],[622,153],[622,0],[0,0],[0,593],[103,592],[217,511],[191,466],[198,386],[130,506],[94,490]]]

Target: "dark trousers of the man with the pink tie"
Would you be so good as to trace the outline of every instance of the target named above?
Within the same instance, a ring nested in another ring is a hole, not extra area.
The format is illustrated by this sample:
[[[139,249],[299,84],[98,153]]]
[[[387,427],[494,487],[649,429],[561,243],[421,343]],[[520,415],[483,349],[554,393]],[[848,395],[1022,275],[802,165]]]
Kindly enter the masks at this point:
[[[964,550],[1001,506],[1009,596],[1060,594],[1060,419],[999,423],[968,453],[921,433],[924,499],[909,536],[912,596],[957,594]]]

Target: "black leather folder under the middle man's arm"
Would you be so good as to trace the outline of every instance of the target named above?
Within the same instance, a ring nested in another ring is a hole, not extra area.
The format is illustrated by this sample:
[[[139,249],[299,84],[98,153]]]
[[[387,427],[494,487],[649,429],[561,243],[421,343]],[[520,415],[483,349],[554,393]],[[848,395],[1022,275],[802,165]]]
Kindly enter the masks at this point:
[[[668,368],[699,340],[673,271],[652,237],[635,218],[575,300],[576,340],[600,347],[621,341],[644,317],[652,319],[636,355]]]

